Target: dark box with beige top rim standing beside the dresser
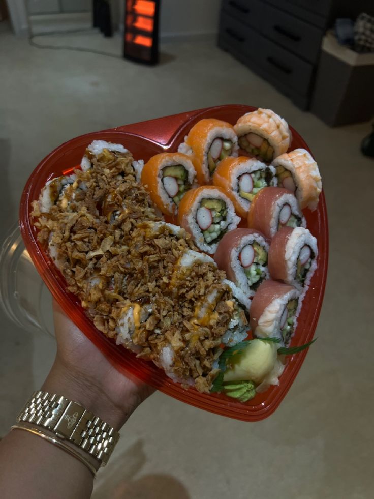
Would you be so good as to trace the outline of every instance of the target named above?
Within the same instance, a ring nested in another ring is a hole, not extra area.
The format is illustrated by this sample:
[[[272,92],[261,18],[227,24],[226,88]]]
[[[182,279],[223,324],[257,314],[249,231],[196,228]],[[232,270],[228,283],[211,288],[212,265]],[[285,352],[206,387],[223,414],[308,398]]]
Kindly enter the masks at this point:
[[[374,114],[374,53],[354,52],[327,33],[311,112],[330,126],[370,120]]]

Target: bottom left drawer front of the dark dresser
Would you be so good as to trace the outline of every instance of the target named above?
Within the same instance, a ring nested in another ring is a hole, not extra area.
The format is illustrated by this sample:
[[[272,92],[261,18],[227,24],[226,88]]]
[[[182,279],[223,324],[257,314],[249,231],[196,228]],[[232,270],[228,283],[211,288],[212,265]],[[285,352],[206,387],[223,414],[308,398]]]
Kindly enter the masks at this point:
[[[251,51],[257,34],[240,21],[221,11],[219,44],[225,49],[246,55]]]

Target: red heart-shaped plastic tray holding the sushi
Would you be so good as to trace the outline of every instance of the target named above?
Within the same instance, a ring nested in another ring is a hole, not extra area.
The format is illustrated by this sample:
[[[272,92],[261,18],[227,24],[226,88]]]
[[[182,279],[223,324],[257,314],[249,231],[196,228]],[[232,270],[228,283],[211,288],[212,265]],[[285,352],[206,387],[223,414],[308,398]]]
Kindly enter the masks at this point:
[[[176,151],[185,134],[202,118],[218,118],[234,124],[239,116],[255,109],[255,107],[242,105],[210,107],[76,137],[60,145],[37,166],[26,183],[20,204],[22,237],[38,272],[65,313],[103,351],[120,372],[135,375],[182,402],[242,421],[260,421],[274,412],[291,387],[304,361],[306,350],[288,358],[288,364],[281,376],[279,386],[269,388],[265,393],[256,395],[254,399],[245,404],[222,394],[206,395],[194,388],[185,390],[179,384],[173,383],[163,371],[151,362],[136,359],[130,351],[117,346],[113,340],[104,336],[93,326],[77,298],[65,290],[64,278],[39,245],[36,239],[36,230],[32,226],[29,214],[32,201],[38,199],[47,180],[80,164],[85,148],[92,140],[103,139],[121,143],[126,145],[135,159],[146,161],[154,154],[163,151]],[[300,135],[292,127],[290,128],[293,135],[290,150],[295,148],[309,149]],[[318,209],[313,213],[306,210],[304,214],[309,230],[318,241],[318,269],[303,302],[291,346],[301,345],[313,338],[322,306],[327,274],[328,224],[323,193],[320,196]]]

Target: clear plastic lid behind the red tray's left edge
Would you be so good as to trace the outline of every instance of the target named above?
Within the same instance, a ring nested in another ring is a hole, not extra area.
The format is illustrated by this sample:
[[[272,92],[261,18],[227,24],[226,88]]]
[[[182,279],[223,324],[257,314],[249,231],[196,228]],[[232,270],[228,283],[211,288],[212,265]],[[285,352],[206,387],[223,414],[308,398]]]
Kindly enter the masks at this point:
[[[7,316],[26,331],[54,336],[52,296],[25,248],[18,224],[2,244],[0,273],[0,298]]]

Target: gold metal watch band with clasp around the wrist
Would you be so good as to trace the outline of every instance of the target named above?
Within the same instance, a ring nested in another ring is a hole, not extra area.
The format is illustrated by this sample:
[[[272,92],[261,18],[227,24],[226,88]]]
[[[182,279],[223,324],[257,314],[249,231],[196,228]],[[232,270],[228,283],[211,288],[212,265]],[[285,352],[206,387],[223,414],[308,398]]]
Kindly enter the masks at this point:
[[[107,464],[119,439],[114,428],[77,402],[48,392],[34,392],[17,421],[48,429],[101,461],[101,466]]]

